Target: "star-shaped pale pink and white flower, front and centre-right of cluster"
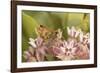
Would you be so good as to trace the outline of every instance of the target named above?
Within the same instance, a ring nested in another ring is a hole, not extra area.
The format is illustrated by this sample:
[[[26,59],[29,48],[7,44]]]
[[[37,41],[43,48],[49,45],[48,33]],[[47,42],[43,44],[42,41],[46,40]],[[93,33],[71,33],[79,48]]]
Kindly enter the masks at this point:
[[[74,54],[76,48],[75,46],[75,40],[69,39],[68,41],[63,42],[63,46],[60,47],[60,50],[62,53],[58,54],[56,57],[61,60],[72,60],[74,59]]]

